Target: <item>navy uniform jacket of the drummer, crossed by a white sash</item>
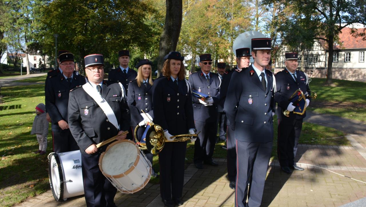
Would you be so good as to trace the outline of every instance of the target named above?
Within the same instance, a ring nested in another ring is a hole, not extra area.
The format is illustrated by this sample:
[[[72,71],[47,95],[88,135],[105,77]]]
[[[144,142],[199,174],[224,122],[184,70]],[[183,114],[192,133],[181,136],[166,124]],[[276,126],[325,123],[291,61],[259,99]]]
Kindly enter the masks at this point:
[[[123,100],[121,101],[120,85],[118,83],[109,85],[103,81],[102,97],[111,106],[120,125],[120,131],[127,131],[130,123],[126,120],[126,108],[123,108],[125,104],[122,104]],[[91,144],[98,144],[117,135],[119,130],[109,122],[100,106],[82,87],[70,92],[68,103],[68,124],[81,153],[86,154],[85,150]]]

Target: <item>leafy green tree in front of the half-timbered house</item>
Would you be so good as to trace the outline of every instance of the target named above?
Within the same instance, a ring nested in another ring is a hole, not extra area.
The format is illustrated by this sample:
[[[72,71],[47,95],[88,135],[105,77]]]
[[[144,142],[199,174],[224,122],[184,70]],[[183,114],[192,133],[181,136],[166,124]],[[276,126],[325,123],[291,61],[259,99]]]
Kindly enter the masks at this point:
[[[366,24],[365,0],[265,0],[266,4],[283,3],[294,9],[294,14],[280,29],[291,47],[306,47],[315,40],[325,41],[328,50],[326,84],[332,84],[333,45],[344,27],[354,23]],[[365,31],[353,35],[365,37]],[[312,45],[312,44],[311,44]]]

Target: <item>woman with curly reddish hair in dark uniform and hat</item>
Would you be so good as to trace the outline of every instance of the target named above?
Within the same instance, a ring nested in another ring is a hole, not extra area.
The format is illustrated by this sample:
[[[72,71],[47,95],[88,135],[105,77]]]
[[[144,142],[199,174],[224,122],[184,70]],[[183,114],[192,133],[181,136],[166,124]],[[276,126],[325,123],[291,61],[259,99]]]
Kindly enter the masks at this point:
[[[183,60],[179,52],[169,52],[164,57],[163,76],[154,81],[154,124],[164,129],[167,140],[172,140],[171,136],[195,131],[191,91],[184,78]],[[165,206],[183,204],[186,148],[187,141],[167,142],[159,153],[160,195]]]

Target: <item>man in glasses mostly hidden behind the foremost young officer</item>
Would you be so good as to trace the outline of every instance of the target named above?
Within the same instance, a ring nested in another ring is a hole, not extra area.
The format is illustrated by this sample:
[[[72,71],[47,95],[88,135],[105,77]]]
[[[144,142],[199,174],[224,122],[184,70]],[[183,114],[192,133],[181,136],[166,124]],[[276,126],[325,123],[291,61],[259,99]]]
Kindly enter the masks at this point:
[[[236,70],[241,70],[243,68],[249,67],[250,63],[250,48],[239,48],[235,50],[236,52]],[[220,106],[224,108],[225,98],[228,91],[231,76],[235,69],[231,69],[224,76],[223,84],[220,88]],[[231,124],[227,119],[226,115],[226,125],[227,125],[227,168],[228,168],[228,178],[229,178],[229,188],[235,189],[236,180],[236,149],[235,149],[235,131],[232,130]]]

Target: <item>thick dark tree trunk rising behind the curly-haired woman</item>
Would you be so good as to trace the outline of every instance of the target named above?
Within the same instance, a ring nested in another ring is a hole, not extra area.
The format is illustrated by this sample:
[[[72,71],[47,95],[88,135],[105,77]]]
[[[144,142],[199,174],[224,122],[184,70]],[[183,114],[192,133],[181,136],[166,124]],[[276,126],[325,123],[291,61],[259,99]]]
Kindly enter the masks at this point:
[[[175,51],[178,44],[180,28],[182,27],[182,0],[166,0],[164,30],[159,42],[158,76],[164,64],[164,56]]]

